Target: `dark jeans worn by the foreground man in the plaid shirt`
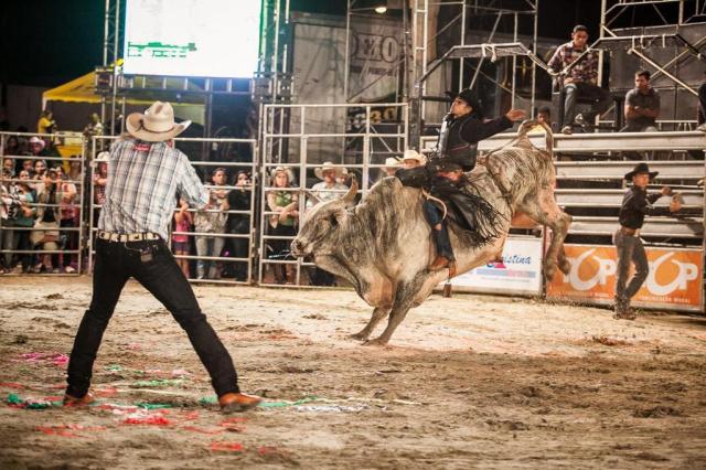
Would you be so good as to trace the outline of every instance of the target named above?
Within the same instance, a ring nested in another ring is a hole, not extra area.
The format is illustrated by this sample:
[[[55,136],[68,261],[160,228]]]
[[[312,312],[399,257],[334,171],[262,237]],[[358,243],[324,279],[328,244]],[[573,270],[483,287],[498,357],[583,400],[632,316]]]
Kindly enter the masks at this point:
[[[142,259],[143,254],[151,259]],[[216,394],[239,392],[233,360],[201,312],[196,297],[167,244],[161,239],[129,243],[97,239],[93,298],[74,340],[66,393],[82,397],[88,391],[103,333],[130,277],[162,302],[186,331],[211,375]]]

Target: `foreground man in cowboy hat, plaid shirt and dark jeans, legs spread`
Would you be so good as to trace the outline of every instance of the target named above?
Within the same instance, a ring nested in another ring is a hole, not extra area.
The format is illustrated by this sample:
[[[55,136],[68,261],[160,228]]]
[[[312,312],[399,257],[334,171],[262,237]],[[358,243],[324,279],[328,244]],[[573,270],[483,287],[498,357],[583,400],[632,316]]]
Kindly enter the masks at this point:
[[[204,189],[172,139],[190,122],[174,124],[169,103],[157,102],[128,116],[129,136],[110,148],[105,204],[98,221],[93,298],[68,363],[65,405],[87,405],[93,363],[125,284],[135,277],[172,313],[211,375],[224,413],[245,410],[260,399],[242,394],[228,351],[201,312],[183,273],[165,244],[176,194],[207,206]]]

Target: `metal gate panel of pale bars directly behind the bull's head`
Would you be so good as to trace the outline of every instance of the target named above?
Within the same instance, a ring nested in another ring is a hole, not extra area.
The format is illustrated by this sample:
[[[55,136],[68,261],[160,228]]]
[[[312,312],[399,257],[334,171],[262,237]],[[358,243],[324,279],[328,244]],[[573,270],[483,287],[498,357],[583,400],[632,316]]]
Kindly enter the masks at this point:
[[[335,282],[312,263],[289,256],[289,244],[313,197],[327,199],[343,189],[317,189],[322,164],[355,173],[361,192],[381,178],[388,158],[399,159],[408,148],[408,108],[404,103],[341,105],[265,105],[261,109],[260,218],[258,284],[322,286]],[[275,186],[276,170],[293,175],[289,186]],[[347,189],[346,189],[347,190]],[[277,228],[275,200],[297,197],[291,229]],[[290,194],[290,195],[287,195]],[[269,202],[268,202],[269,196]]]

